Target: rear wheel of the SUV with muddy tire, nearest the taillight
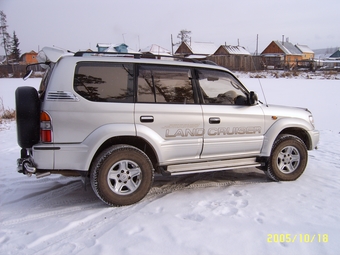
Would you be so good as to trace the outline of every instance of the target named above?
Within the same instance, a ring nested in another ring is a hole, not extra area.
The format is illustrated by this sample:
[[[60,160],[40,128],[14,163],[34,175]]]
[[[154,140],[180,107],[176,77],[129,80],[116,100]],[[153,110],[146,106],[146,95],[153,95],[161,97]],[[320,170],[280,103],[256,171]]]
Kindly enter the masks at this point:
[[[110,206],[136,203],[149,192],[154,178],[152,163],[141,150],[115,145],[104,150],[91,167],[91,186]]]

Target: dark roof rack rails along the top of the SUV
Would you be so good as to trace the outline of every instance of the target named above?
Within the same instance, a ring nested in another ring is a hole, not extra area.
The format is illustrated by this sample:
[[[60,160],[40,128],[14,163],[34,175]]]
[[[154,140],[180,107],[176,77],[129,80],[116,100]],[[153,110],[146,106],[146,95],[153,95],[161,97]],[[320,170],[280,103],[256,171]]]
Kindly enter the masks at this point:
[[[82,57],[84,55],[87,56],[104,56],[104,55],[111,55],[111,56],[119,56],[119,57],[134,57],[136,59],[140,58],[150,58],[150,55],[146,55],[143,53],[124,53],[124,52],[99,52],[99,51],[78,51],[74,54],[75,57]],[[183,61],[183,62],[192,62],[192,63],[201,63],[201,64],[208,64],[208,65],[217,65],[215,62],[211,60],[197,60],[193,58],[186,58],[182,56],[172,56],[172,55],[156,55],[157,57],[163,57],[163,58],[172,58],[177,61]]]

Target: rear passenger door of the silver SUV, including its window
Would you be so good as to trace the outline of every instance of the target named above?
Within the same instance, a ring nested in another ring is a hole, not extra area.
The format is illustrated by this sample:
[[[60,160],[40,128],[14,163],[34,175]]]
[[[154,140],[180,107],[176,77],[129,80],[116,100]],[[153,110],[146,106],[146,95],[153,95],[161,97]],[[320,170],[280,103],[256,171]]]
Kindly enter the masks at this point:
[[[160,164],[199,158],[203,116],[189,67],[138,66],[137,135],[155,148]]]

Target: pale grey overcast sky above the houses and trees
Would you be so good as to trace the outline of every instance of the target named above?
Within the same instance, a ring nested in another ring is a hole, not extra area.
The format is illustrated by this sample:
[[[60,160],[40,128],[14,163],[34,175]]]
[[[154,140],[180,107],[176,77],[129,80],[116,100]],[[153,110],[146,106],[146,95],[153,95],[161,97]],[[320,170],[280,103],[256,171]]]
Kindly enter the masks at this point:
[[[57,46],[96,50],[123,43],[171,51],[182,29],[193,42],[238,42],[251,53],[288,37],[311,49],[340,47],[339,0],[0,0],[21,53]],[[3,54],[3,49],[0,49]]]

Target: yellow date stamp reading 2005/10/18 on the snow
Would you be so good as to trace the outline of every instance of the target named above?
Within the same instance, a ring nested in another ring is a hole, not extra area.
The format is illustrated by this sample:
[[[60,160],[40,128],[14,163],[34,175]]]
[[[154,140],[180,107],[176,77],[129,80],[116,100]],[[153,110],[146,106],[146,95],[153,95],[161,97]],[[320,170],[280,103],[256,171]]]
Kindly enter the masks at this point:
[[[328,234],[268,234],[268,243],[328,243]]]

